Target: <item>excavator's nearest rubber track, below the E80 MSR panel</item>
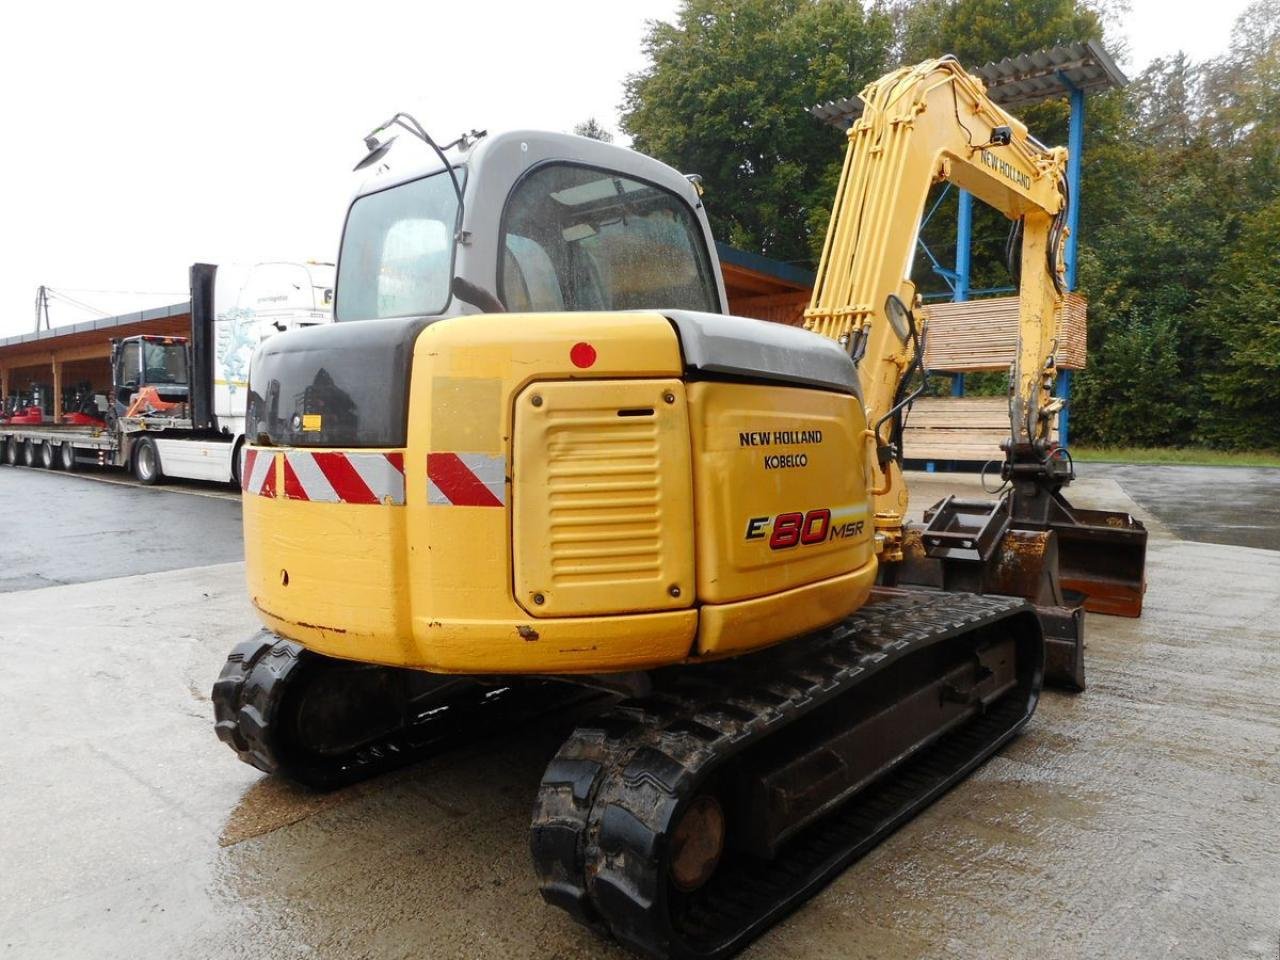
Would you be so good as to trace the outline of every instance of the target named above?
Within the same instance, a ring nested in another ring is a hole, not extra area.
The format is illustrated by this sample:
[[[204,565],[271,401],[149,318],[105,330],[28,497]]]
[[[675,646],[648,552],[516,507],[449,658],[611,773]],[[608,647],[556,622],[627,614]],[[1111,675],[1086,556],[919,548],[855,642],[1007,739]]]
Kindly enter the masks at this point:
[[[548,765],[530,838],[543,897],[650,956],[736,952],[1012,737],[1034,710],[1043,648],[1030,680],[986,714],[806,827],[776,859],[727,851],[712,882],[672,910],[678,895],[660,874],[682,801],[726,759],[906,653],[1018,616],[1020,628],[1033,622],[1020,599],[906,591],[774,655],[660,672],[652,696],[580,727]]]

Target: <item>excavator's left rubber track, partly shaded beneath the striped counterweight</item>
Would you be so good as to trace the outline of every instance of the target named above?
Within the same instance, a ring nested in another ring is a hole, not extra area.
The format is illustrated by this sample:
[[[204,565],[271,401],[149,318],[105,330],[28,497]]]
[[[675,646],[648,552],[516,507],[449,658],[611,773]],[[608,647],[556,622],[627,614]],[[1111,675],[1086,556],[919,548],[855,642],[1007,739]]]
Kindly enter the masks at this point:
[[[549,709],[593,696],[563,684],[463,686],[389,733],[347,753],[316,756],[284,746],[287,695],[328,658],[262,630],[238,644],[214,682],[214,730],[237,756],[317,790],[332,790],[474,741]],[[390,669],[390,668],[388,668]],[[447,707],[447,710],[439,708]]]

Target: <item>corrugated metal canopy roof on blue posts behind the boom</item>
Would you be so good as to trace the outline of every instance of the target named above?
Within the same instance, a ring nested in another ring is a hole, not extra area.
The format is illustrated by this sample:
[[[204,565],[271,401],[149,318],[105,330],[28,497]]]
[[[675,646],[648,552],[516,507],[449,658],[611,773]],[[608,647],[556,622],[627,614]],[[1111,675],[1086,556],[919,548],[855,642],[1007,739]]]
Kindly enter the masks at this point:
[[[1073,90],[1093,93],[1129,82],[1096,40],[1006,56],[972,73],[987,84],[987,96],[1001,106],[1038,104],[1069,96]],[[849,129],[861,115],[863,101],[856,96],[842,97],[812,106],[809,113],[832,127]]]

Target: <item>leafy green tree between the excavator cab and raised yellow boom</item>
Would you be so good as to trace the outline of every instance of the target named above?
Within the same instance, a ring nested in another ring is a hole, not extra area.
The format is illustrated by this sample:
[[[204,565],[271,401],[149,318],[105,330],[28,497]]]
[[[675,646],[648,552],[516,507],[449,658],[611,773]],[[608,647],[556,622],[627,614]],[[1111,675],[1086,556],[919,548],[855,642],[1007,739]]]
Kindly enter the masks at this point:
[[[717,237],[813,266],[844,138],[808,108],[883,73],[892,41],[888,14],[854,0],[687,0],[650,23],[622,129],[703,175]]]

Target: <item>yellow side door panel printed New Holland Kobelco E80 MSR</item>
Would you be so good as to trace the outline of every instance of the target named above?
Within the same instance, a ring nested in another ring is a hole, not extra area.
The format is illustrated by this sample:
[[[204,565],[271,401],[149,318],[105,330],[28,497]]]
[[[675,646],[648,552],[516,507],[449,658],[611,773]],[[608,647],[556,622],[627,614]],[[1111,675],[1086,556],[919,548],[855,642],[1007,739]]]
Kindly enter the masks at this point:
[[[689,385],[698,599],[777,594],[873,554],[858,399],[795,387]]]

